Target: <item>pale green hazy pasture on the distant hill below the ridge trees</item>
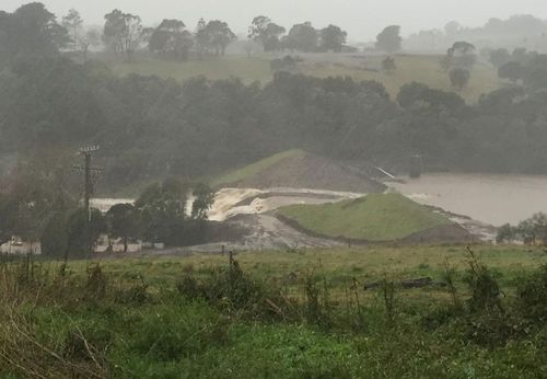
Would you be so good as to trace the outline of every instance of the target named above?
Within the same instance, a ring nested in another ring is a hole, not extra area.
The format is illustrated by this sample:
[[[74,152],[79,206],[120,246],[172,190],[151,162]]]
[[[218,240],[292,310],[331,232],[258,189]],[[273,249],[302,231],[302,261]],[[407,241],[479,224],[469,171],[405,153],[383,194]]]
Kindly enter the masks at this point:
[[[449,76],[439,65],[440,56],[399,55],[396,57],[397,70],[393,73],[380,69],[382,57],[349,55],[303,55],[299,64],[300,72],[314,77],[349,76],[356,80],[376,80],[382,82],[395,97],[403,84],[418,81],[431,88],[452,91]],[[268,82],[272,78],[270,60],[274,55],[258,55],[248,58],[245,55],[232,55],[207,60],[187,62],[162,61],[141,58],[136,62],[116,62],[113,69],[118,74],[140,73],[158,74],[163,78],[186,80],[205,76],[211,80],[241,78],[244,82]],[[366,69],[365,69],[366,68]],[[477,64],[472,71],[469,85],[461,92],[468,102],[475,102],[481,93],[499,88],[496,70],[487,64]]]

